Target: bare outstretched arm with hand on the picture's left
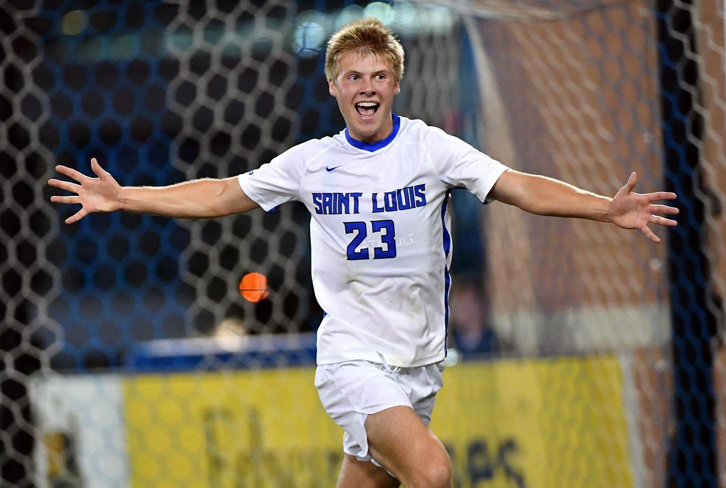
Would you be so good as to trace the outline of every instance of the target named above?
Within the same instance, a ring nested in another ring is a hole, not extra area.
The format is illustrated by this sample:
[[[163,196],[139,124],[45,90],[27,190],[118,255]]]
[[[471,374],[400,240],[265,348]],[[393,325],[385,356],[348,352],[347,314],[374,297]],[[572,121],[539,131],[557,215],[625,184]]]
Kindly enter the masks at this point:
[[[90,178],[67,166],[59,165],[55,169],[78,181],[48,181],[51,186],[76,193],[68,197],[51,197],[51,202],[81,204],[81,210],[65,219],[65,223],[77,222],[89,213],[115,210],[176,218],[213,218],[258,208],[258,204],[242,191],[237,177],[186,181],[171,186],[134,187],[119,185],[110,173],[101,168],[96,158],[91,159],[91,170],[97,178]]]

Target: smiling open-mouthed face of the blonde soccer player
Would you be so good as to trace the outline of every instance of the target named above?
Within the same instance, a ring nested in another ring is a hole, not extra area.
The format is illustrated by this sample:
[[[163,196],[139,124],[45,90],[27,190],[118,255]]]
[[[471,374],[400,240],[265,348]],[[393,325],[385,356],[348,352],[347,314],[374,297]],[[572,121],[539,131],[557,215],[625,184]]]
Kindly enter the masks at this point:
[[[386,59],[356,51],[343,53],[338,59],[338,78],[328,80],[328,85],[351,137],[376,142],[393,131],[393,96],[401,90]]]

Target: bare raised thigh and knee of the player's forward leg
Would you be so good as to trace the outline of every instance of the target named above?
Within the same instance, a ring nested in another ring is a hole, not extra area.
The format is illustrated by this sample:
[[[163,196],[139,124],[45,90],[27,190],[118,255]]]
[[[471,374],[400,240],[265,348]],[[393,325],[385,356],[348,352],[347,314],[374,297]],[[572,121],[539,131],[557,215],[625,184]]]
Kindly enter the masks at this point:
[[[444,444],[410,407],[392,407],[365,421],[372,457],[407,488],[450,488],[452,463]]]

